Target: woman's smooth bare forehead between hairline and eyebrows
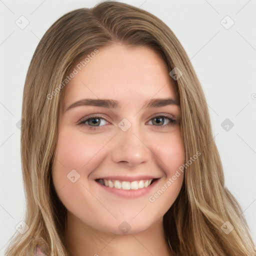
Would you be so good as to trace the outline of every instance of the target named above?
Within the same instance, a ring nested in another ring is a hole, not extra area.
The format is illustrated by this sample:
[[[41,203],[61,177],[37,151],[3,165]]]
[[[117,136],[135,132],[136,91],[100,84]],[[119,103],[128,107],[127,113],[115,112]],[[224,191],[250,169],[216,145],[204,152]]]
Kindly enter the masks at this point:
[[[65,86],[64,107],[84,97],[113,98],[124,104],[152,97],[175,98],[164,61],[146,46],[114,43],[99,48],[80,70],[75,68],[77,74]]]

